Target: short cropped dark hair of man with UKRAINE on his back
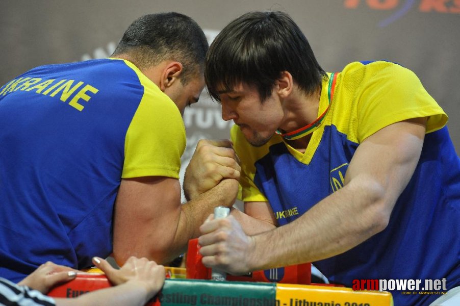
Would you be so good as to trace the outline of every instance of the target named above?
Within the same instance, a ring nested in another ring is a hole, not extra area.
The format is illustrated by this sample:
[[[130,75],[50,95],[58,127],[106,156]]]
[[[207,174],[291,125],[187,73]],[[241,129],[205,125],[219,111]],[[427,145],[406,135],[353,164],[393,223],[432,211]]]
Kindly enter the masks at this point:
[[[181,82],[186,84],[189,74],[202,71],[208,48],[205,34],[192,18],[169,12],[134,20],[113,56],[129,54],[139,68],[178,61],[184,69]]]

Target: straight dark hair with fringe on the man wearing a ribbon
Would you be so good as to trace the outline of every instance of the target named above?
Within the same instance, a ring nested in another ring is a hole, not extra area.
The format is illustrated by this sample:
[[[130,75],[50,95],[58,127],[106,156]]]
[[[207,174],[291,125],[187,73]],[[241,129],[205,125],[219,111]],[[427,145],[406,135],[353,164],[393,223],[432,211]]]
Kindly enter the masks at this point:
[[[211,43],[205,62],[208,91],[218,101],[218,86],[231,91],[240,82],[255,86],[264,101],[283,71],[305,93],[327,78],[308,40],[283,12],[249,12],[233,20]]]

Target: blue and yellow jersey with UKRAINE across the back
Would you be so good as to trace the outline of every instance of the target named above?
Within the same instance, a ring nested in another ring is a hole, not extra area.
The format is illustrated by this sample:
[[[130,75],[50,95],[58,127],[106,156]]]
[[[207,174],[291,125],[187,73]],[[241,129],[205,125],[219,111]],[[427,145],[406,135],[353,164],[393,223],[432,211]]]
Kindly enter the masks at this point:
[[[173,101],[119,59],[20,75],[0,88],[0,125],[0,275],[13,281],[108,256],[121,179],[177,179],[186,144]]]

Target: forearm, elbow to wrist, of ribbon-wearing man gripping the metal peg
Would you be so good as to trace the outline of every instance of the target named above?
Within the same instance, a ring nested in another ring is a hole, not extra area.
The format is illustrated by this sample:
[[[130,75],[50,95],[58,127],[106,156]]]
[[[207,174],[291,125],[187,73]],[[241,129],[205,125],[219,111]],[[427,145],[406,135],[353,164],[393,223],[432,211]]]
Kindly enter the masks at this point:
[[[381,202],[382,190],[369,185],[350,184],[317,203],[294,222],[253,236],[249,269],[325,259],[382,231],[387,225],[389,210]],[[360,197],[356,197],[358,192]]]

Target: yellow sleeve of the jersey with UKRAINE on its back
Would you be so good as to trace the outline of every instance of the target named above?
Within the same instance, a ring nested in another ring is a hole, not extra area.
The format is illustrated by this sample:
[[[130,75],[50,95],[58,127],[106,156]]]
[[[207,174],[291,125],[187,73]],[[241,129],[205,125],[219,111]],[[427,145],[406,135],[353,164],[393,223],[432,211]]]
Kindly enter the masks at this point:
[[[123,179],[167,176],[178,179],[186,145],[185,126],[173,101],[132,63],[144,95],[126,132]]]

